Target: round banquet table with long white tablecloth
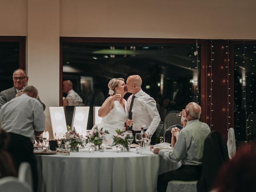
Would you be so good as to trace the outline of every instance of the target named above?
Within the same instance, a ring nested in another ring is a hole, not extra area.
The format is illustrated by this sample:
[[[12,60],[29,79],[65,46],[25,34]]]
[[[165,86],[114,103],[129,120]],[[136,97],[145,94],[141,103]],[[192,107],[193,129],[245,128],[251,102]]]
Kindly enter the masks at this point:
[[[40,192],[156,192],[158,175],[181,165],[159,155],[136,154],[135,149],[117,153],[116,147],[36,159]]]

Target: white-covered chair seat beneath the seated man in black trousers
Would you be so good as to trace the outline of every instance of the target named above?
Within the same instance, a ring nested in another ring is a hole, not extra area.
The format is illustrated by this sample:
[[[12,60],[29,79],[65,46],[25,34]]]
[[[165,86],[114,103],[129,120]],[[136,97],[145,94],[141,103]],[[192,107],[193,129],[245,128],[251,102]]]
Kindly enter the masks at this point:
[[[170,181],[166,192],[196,192],[197,181]]]

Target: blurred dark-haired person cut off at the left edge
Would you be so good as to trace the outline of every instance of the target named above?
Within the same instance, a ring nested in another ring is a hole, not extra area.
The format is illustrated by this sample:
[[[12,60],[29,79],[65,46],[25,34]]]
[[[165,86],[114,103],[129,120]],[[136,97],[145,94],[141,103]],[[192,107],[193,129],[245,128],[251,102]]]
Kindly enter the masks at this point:
[[[8,143],[8,134],[0,128],[0,178],[8,176],[17,176],[12,158],[6,147]]]

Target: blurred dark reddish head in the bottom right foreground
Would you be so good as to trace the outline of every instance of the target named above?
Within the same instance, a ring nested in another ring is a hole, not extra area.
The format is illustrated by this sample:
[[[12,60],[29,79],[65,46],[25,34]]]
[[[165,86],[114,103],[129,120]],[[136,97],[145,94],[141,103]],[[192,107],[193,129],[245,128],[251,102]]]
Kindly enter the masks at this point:
[[[256,144],[244,145],[216,177],[212,192],[254,192],[256,190]]]

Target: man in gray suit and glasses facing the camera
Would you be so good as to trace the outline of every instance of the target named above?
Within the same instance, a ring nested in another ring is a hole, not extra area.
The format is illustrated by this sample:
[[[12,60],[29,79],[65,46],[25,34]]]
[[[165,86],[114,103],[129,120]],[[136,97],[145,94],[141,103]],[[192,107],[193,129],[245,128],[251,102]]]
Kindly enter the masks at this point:
[[[28,73],[23,69],[16,69],[13,72],[13,84],[14,87],[10,89],[3,90],[0,93],[0,108],[8,101],[12,100],[15,97],[18,97],[22,94],[23,88],[28,82]],[[45,110],[45,104],[37,97],[38,101],[42,104]]]

